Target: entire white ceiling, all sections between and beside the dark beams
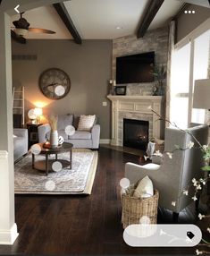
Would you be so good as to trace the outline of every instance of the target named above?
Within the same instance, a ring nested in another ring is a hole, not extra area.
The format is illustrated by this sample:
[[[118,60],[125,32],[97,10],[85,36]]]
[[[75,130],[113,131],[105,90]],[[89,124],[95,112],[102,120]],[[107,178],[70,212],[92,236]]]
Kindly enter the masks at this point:
[[[64,5],[82,39],[112,39],[134,34],[148,3],[149,0],[71,0]],[[182,1],[165,0],[149,30],[166,25],[181,5]],[[56,32],[53,35],[29,32],[25,38],[72,38],[53,6],[30,10],[23,17],[30,27]],[[19,18],[20,15],[12,17],[12,27],[13,21]]]

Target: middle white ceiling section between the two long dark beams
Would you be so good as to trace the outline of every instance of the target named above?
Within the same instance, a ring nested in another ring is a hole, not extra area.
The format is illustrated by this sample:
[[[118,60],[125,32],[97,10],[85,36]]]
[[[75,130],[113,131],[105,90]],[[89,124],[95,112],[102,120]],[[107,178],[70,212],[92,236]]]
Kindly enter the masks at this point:
[[[71,0],[64,2],[81,38],[120,38],[134,34],[147,0]],[[116,27],[122,29],[116,30]]]

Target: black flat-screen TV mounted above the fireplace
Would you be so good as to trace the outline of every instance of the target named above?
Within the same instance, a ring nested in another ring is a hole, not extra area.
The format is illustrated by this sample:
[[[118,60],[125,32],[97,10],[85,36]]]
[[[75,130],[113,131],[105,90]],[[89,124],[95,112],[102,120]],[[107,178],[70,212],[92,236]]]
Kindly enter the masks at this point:
[[[152,82],[155,52],[116,58],[116,83]]]

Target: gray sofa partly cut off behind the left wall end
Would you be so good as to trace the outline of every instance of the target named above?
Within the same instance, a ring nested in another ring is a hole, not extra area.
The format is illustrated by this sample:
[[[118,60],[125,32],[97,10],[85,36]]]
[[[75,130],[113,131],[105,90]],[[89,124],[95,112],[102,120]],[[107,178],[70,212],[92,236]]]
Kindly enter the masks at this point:
[[[13,134],[17,136],[13,138],[13,159],[17,161],[28,153],[28,130],[15,128]]]

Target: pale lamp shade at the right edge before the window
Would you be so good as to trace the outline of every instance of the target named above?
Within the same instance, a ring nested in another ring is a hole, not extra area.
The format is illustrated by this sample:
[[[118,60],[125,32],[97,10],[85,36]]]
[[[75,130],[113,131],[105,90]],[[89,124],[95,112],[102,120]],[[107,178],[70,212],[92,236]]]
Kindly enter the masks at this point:
[[[193,108],[210,109],[210,79],[195,81]]]

